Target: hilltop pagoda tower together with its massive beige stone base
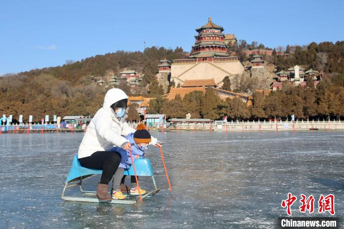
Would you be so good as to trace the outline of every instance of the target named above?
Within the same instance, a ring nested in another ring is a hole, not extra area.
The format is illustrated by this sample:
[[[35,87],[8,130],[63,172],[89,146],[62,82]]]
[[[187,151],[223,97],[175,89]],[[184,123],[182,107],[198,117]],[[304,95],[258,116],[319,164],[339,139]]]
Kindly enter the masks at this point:
[[[186,80],[214,79],[216,86],[222,86],[222,80],[245,70],[238,57],[229,56],[228,42],[209,17],[208,23],[196,29],[195,44],[191,54],[185,59],[174,59],[171,64],[171,81],[183,85]],[[159,66],[160,67],[160,66]]]

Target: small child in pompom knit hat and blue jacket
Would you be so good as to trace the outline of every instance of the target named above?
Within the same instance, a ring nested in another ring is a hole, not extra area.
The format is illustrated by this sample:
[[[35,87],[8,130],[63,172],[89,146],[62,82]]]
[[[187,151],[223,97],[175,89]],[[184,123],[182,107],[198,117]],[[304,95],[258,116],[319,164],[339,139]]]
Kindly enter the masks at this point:
[[[126,139],[129,143],[132,144],[131,146],[131,154],[133,155],[133,159],[137,159],[143,157],[144,151],[148,147],[148,143],[152,141],[149,132],[145,129],[144,124],[139,124],[137,126],[137,130],[135,133],[129,134]],[[159,143],[155,145],[160,146]],[[115,200],[123,200],[126,197],[121,192],[121,183],[124,183],[124,170],[129,169],[132,162],[129,154],[129,150],[123,150],[122,148],[116,147],[115,151],[120,153],[121,155],[121,162],[117,171],[115,172],[113,178],[113,189],[112,189],[112,198]],[[122,182],[123,181],[123,182]],[[132,187],[130,188],[130,194],[132,195],[139,195],[138,187],[136,186],[136,179],[135,176],[131,176],[131,183]],[[136,186],[135,188],[133,188]],[[146,191],[140,189],[141,194],[145,194]]]

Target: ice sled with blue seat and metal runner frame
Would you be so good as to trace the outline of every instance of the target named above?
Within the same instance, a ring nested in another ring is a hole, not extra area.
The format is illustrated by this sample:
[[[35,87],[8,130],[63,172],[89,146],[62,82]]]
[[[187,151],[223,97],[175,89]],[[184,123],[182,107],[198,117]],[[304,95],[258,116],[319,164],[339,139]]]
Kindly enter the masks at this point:
[[[150,161],[148,158],[138,158],[134,160],[134,165],[136,169],[136,174],[138,176],[150,176],[153,181],[154,190],[151,192],[147,192],[142,196],[142,199],[152,196],[160,191],[160,189],[157,188],[155,179],[154,179],[154,173],[152,166],[150,164]],[[83,189],[82,183],[83,180],[89,176],[95,175],[95,174],[102,174],[102,170],[95,170],[95,169],[88,169],[85,167],[82,167],[80,165],[80,162],[78,160],[78,155],[76,154],[73,158],[72,166],[70,168],[70,171],[68,173],[68,176],[66,178],[66,181],[64,183],[63,191],[61,198],[63,200],[68,201],[81,201],[81,202],[99,202],[99,200],[95,196],[95,191],[85,191]],[[124,170],[124,175],[135,175],[133,166],[131,166],[128,170]],[[71,188],[74,186],[79,186],[80,191],[83,193],[83,197],[68,197],[64,196],[64,192],[67,188]],[[121,204],[134,204],[137,203],[138,200],[136,197],[128,196],[125,200],[111,200],[109,203],[121,203]]]

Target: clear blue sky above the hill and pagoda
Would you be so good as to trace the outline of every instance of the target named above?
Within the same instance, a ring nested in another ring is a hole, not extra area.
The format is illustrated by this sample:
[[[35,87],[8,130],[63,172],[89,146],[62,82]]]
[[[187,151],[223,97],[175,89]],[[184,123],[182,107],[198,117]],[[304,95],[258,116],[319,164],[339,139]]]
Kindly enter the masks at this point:
[[[217,3],[216,3],[217,2]],[[117,50],[182,47],[208,17],[267,47],[344,40],[342,0],[2,1],[0,75]]]

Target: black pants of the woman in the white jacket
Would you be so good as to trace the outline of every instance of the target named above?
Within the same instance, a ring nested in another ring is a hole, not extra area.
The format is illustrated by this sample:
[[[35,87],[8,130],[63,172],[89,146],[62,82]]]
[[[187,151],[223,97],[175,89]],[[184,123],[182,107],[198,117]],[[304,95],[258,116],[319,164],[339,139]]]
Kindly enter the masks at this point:
[[[97,151],[91,156],[79,159],[82,167],[89,169],[103,170],[100,178],[101,184],[109,184],[116,170],[118,169],[121,156],[114,151]]]

